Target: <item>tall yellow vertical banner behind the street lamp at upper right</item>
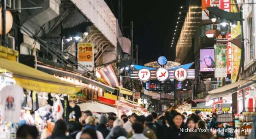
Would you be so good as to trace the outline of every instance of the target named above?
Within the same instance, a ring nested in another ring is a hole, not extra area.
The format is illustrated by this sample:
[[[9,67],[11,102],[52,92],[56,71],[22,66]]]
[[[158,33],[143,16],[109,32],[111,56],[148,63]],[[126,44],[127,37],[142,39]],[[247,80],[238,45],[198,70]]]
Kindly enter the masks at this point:
[[[231,0],[231,3],[235,3],[235,0]],[[235,5],[231,5],[231,12],[238,12]],[[234,39],[240,34],[241,34],[241,25],[240,25],[240,22],[237,22],[237,26],[235,27],[231,26],[231,38]],[[238,46],[231,43],[231,54],[232,54],[231,80],[233,83],[233,82],[236,82],[239,74],[242,50]]]

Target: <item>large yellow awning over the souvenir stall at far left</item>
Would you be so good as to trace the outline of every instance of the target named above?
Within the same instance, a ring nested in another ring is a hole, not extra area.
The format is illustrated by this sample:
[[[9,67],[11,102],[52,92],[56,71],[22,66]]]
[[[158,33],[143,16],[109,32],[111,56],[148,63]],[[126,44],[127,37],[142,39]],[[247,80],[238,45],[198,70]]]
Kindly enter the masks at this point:
[[[22,88],[40,92],[74,94],[79,86],[62,81],[54,76],[16,61],[0,58],[0,67],[13,73],[13,78]]]

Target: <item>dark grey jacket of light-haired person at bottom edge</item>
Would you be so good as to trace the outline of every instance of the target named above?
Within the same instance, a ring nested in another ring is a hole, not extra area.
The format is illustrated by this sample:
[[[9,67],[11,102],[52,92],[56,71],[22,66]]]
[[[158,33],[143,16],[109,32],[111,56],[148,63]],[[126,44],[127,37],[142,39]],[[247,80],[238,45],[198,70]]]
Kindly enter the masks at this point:
[[[113,127],[105,139],[117,139],[119,136],[127,136],[127,132],[123,127]]]

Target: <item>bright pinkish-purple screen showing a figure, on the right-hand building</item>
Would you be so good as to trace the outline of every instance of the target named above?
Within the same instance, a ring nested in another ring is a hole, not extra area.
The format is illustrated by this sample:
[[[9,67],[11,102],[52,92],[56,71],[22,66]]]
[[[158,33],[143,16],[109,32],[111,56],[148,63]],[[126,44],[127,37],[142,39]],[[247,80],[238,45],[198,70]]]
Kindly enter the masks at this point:
[[[214,71],[214,49],[200,49],[200,71]]]

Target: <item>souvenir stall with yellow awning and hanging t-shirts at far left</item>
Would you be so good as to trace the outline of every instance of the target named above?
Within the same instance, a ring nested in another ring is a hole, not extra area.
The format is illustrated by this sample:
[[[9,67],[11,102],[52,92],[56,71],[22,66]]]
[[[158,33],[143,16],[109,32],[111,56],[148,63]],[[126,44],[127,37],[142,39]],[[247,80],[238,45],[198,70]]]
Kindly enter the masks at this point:
[[[67,94],[79,92],[79,85],[3,58],[0,71],[0,138],[16,138],[17,128],[28,124],[45,139],[56,120],[68,118]]]

